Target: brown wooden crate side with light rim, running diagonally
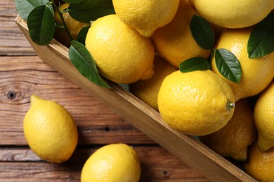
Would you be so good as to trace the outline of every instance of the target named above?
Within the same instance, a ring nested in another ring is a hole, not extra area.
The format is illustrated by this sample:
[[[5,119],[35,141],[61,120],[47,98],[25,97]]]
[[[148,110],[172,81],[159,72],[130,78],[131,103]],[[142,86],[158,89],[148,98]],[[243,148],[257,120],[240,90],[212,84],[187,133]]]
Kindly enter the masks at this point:
[[[53,40],[49,45],[37,45],[29,36],[27,23],[19,16],[15,19],[18,27],[30,41],[32,47],[41,59],[69,80],[82,87],[86,92],[97,97],[115,112],[126,118],[134,127],[145,133],[166,148],[167,151],[197,169],[210,181],[255,181],[241,169],[211,151],[207,146],[188,135],[171,129],[157,111],[150,108],[140,99],[127,92],[116,83],[110,83],[112,89],[100,87],[81,76],[81,73],[70,62],[68,49]],[[157,156],[155,156],[157,158]]]

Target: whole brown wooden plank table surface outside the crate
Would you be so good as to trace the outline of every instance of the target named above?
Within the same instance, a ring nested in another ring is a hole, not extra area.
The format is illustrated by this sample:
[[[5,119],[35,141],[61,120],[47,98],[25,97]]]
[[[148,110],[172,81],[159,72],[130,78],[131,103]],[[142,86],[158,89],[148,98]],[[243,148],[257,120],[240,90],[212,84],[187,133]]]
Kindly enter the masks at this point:
[[[13,0],[0,1],[0,181],[80,181],[100,146],[126,143],[141,160],[141,181],[207,181],[37,57],[14,20]],[[63,164],[41,160],[27,146],[22,121],[37,94],[63,105],[77,123],[79,144]]]

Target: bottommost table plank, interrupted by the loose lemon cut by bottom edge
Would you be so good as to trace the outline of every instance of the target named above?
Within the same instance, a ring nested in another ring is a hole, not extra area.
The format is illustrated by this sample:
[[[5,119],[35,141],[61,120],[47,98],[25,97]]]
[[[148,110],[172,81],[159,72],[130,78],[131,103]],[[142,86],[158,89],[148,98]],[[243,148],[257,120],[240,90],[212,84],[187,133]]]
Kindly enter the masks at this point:
[[[41,161],[25,148],[0,150],[0,181],[79,181],[81,168],[99,146],[75,151],[63,164]],[[158,146],[133,146],[141,161],[142,181],[207,181]],[[183,180],[185,179],[185,180]]]

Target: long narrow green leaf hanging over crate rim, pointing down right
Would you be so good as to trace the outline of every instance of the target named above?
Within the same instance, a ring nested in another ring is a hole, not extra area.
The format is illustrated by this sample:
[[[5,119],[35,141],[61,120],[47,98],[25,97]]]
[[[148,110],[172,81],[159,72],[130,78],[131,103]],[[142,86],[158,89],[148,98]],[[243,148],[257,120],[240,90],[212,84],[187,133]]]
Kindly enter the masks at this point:
[[[105,80],[100,77],[94,59],[84,45],[77,41],[72,41],[72,45],[70,45],[69,49],[69,56],[72,64],[74,64],[84,77],[88,78],[96,85],[110,88]]]

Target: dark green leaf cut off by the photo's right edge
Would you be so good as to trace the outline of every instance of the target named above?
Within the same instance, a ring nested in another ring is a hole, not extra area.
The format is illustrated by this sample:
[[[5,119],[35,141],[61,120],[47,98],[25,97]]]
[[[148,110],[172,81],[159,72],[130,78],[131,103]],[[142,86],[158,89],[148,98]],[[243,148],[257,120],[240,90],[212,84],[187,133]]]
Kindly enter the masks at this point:
[[[262,57],[274,51],[274,12],[252,30],[247,43],[249,58]]]

